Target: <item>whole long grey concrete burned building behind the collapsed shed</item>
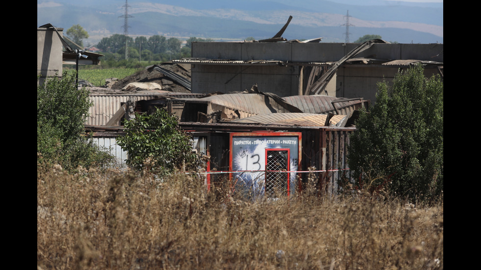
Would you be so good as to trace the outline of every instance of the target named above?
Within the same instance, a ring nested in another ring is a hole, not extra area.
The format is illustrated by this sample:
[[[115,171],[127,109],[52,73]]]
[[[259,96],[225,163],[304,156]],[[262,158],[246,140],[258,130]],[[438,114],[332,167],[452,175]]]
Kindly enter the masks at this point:
[[[421,63],[443,76],[443,44],[193,42],[193,93],[229,93],[257,84],[280,97],[322,94],[375,102],[377,82]]]

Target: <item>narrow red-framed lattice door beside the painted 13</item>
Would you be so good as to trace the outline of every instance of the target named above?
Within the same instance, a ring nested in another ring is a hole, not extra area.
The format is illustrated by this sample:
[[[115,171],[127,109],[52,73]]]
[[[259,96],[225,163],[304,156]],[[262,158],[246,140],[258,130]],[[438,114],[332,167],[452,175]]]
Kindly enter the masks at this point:
[[[269,198],[289,195],[289,150],[266,149],[266,192]]]

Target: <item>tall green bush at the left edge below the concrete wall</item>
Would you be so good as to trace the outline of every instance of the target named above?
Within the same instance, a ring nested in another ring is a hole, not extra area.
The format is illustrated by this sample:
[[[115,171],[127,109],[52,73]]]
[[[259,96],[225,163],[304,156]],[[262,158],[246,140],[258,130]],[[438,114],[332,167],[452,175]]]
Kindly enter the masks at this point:
[[[50,78],[43,84],[38,84],[37,77],[37,159],[59,163],[67,170],[113,160],[88,143],[83,123],[92,102],[88,90],[76,89],[75,77],[64,71],[62,79]]]

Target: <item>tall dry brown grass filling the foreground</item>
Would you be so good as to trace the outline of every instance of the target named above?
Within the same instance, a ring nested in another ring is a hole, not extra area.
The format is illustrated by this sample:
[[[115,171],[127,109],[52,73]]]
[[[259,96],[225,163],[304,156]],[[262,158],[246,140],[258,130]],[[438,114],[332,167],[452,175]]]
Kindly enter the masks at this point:
[[[219,200],[185,175],[37,165],[37,269],[443,269],[443,199]]]

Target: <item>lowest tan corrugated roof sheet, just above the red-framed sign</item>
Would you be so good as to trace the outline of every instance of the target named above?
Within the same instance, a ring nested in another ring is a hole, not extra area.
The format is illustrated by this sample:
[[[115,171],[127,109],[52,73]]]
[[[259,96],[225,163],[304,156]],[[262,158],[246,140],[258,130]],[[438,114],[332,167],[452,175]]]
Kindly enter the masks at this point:
[[[335,115],[329,123],[335,125],[341,121],[345,115]],[[325,126],[327,119],[326,114],[313,113],[277,113],[256,115],[238,120],[231,123],[259,123],[259,124],[275,124],[275,125],[298,125],[298,126]]]

